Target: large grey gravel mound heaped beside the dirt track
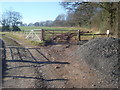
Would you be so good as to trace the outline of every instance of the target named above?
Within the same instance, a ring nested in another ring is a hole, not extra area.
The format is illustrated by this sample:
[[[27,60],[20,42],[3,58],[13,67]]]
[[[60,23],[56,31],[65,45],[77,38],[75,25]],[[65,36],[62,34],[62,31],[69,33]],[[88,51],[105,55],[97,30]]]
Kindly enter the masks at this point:
[[[96,38],[78,48],[76,55],[92,68],[110,76],[120,75],[120,39]]]

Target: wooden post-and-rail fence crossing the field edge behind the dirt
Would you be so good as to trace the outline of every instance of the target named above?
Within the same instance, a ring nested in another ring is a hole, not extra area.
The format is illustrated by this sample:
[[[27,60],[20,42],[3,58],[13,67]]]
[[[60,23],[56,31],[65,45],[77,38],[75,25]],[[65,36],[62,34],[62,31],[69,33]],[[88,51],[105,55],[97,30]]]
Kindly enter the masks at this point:
[[[101,34],[92,34],[90,31],[82,31],[82,30],[44,30],[44,29],[34,29],[34,32],[38,35],[40,40],[44,41],[47,38],[54,38],[58,35],[69,35],[72,34],[72,36],[77,36],[78,40],[81,40],[82,36],[92,36],[95,38],[95,36],[99,35],[106,35],[109,37],[109,31],[107,30],[107,33],[101,33]],[[24,35],[27,35],[30,33],[30,30],[24,30]]]

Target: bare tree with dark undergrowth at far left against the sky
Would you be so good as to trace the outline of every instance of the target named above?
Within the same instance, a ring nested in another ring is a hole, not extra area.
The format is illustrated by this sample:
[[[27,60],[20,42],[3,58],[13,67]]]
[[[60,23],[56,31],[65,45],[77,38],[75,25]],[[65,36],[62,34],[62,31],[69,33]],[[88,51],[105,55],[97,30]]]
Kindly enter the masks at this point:
[[[21,23],[22,16],[16,11],[6,11],[2,14],[2,19],[0,23],[2,24],[3,31],[18,31],[18,24]],[[11,29],[10,29],[11,28]]]

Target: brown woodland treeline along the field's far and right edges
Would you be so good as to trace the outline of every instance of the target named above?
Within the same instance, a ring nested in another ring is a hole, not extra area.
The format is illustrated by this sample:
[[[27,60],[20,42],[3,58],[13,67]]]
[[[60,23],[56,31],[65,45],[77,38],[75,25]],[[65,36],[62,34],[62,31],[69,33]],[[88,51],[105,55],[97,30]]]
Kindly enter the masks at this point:
[[[119,2],[63,2],[60,3],[67,14],[60,14],[54,21],[30,23],[29,26],[83,27],[118,35]]]

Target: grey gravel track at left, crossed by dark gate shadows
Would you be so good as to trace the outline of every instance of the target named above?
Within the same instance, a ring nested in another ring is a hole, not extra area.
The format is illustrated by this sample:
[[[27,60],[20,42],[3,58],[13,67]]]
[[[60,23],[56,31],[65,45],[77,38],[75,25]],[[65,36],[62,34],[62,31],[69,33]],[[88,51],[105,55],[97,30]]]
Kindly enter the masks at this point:
[[[67,62],[49,60],[46,57],[46,51],[41,48],[25,48],[16,42],[14,44],[14,41],[12,43],[16,46],[12,46],[8,42],[9,38],[7,40],[6,38],[4,38],[6,68],[3,75],[3,88],[55,87],[53,85],[54,81],[55,83],[67,81],[58,75],[53,75],[54,70],[51,69],[51,64],[68,64]],[[60,87],[63,87],[63,85],[61,84]]]

